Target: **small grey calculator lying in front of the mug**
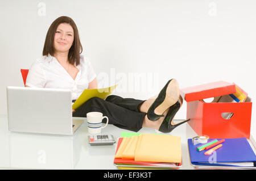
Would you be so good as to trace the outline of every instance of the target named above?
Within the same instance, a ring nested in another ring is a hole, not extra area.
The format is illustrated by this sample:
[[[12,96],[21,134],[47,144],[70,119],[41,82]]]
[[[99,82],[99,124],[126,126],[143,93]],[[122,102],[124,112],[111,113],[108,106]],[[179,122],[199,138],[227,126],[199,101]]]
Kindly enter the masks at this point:
[[[92,146],[113,145],[115,143],[112,134],[89,135],[88,142]]]

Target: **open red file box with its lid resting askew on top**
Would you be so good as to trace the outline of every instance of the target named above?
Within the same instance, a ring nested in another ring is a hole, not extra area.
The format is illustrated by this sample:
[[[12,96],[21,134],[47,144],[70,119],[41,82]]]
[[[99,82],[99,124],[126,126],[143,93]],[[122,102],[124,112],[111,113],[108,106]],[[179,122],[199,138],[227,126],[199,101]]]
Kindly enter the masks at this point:
[[[207,83],[180,89],[187,102],[188,124],[198,134],[207,134],[210,138],[250,138],[252,102],[247,97],[243,103],[211,102],[203,99],[233,94],[236,85],[224,81]],[[230,119],[224,119],[222,113],[232,112]]]

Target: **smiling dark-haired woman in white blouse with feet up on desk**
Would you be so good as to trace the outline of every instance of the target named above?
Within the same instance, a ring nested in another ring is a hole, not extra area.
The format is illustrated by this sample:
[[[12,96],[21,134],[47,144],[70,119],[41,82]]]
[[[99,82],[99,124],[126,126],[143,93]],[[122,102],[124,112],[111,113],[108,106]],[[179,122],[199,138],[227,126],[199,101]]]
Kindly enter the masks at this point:
[[[57,18],[47,32],[43,56],[28,72],[26,86],[69,89],[73,100],[84,89],[97,89],[96,73],[81,52],[75,22],[67,16]],[[171,79],[157,98],[136,100],[117,95],[110,95],[106,100],[92,98],[73,110],[73,116],[86,117],[86,113],[98,111],[109,117],[109,124],[119,128],[138,132],[142,127],[149,127],[167,133],[186,122],[172,123],[182,103],[179,85],[176,79]]]

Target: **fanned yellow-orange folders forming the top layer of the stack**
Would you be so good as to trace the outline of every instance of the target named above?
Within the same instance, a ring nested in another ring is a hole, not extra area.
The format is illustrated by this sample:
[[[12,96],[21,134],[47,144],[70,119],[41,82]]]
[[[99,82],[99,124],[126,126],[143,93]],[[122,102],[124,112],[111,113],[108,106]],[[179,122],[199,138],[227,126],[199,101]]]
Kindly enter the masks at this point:
[[[181,163],[181,138],[166,134],[139,134],[123,137],[115,158],[135,162]]]

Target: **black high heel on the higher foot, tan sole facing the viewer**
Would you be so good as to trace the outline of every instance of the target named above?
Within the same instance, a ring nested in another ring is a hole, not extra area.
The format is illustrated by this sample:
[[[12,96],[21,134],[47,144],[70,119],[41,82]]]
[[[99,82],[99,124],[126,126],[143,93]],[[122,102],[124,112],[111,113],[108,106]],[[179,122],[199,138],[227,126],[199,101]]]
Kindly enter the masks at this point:
[[[151,121],[156,121],[164,117],[163,113],[179,99],[179,85],[176,79],[171,79],[160,91],[158,97],[147,111],[147,117]],[[157,115],[155,112],[160,113]]]

